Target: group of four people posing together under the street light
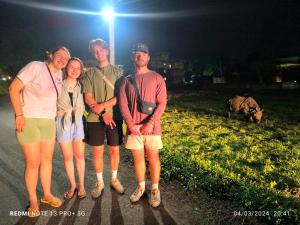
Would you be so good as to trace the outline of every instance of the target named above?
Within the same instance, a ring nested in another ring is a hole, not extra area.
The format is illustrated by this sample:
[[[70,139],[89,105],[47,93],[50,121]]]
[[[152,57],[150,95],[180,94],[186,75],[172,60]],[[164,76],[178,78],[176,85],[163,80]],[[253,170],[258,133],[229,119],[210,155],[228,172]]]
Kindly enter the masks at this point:
[[[148,68],[150,52],[138,43],[132,49],[133,74],[109,62],[109,49],[102,39],[90,41],[89,49],[98,65],[86,68],[79,58],[71,57],[66,47],[54,49],[45,62],[33,61],[20,70],[9,94],[15,111],[17,140],[25,157],[25,185],[29,196],[28,216],[40,215],[36,193],[38,177],[43,189],[41,202],[60,207],[62,200],[51,192],[52,158],[55,140],[60,144],[70,182],[65,199],[86,197],[85,142],[93,146],[96,173],[93,198],[104,189],[103,152],[109,146],[111,187],[120,194],[124,187],[118,179],[119,149],[123,143],[123,120],[127,125],[125,147],[134,159],[138,186],[130,196],[137,202],[145,193],[145,154],[152,182],[149,203],[160,205],[160,117],[167,104],[164,79]],[[83,114],[88,112],[84,129]],[[74,175],[74,161],[78,184]]]

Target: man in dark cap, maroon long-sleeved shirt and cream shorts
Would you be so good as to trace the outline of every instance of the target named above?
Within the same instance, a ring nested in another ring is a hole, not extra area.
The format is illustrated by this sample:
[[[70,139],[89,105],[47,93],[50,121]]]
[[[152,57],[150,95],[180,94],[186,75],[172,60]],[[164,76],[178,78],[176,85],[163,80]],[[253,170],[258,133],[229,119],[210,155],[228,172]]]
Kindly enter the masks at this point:
[[[119,94],[120,110],[127,124],[125,147],[132,152],[138,181],[130,200],[137,202],[145,193],[146,153],[152,182],[149,203],[157,207],[161,202],[158,188],[161,168],[159,149],[163,147],[160,117],[167,104],[166,84],[161,75],[148,69],[150,55],[145,44],[138,43],[133,47],[132,60],[135,73],[124,78]],[[141,101],[146,102],[145,109],[140,107]]]

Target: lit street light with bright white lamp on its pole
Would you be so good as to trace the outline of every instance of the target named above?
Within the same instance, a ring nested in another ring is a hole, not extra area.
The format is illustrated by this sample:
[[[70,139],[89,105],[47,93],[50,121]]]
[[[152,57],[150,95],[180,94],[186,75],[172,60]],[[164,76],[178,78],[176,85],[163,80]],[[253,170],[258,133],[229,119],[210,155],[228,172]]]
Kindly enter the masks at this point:
[[[109,26],[109,61],[110,64],[115,65],[115,31],[114,31],[114,17],[115,12],[112,9],[106,9],[102,12],[103,18],[108,21]]]

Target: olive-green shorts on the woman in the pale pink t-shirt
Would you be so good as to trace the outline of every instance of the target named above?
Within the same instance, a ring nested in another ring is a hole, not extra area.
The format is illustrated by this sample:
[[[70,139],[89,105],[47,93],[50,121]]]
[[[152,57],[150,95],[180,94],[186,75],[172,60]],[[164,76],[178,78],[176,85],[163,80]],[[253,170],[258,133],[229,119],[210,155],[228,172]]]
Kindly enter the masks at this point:
[[[25,118],[25,129],[16,132],[21,145],[40,141],[55,140],[56,129],[54,119]]]

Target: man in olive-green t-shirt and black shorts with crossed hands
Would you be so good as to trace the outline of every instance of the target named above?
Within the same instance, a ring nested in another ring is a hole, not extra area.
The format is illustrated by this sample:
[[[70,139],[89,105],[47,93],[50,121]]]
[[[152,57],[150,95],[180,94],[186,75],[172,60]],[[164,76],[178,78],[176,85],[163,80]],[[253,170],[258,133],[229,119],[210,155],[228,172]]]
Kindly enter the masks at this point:
[[[122,117],[117,104],[117,87],[123,71],[109,63],[108,45],[102,39],[91,40],[89,48],[98,62],[98,66],[88,68],[83,80],[83,92],[89,107],[87,117],[86,142],[93,146],[94,168],[97,182],[92,189],[92,197],[98,198],[104,189],[103,151],[106,137],[110,150],[112,170],[111,186],[120,194],[124,188],[117,178],[122,144]]]

